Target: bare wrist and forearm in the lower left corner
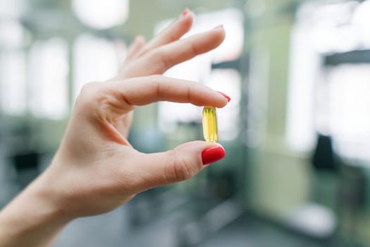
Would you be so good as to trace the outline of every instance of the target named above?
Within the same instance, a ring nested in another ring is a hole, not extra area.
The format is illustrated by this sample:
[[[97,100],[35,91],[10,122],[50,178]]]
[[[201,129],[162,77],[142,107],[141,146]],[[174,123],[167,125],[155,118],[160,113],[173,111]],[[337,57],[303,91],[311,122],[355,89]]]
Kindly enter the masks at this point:
[[[42,181],[40,176],[0,211],[0,246],[49,246],[72,220]]]

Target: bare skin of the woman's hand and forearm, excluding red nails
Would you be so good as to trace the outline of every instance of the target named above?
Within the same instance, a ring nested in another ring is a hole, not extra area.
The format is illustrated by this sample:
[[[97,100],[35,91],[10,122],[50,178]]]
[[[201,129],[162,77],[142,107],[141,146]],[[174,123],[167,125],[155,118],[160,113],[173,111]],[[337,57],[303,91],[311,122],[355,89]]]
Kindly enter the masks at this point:
[[[187,10],[150,42],[136,37],[115,78],[85,85],[47,170],[0,212],[0,246],[51,246],[73,219],[109,212],[136,193],[190,179],[204,169],[202,151],[218,144],[195,141],[144,154],[127,140],[136,106],[227,104],[204,85],[161,76],[223,42],[222,27],[180,40],[192,20]]]

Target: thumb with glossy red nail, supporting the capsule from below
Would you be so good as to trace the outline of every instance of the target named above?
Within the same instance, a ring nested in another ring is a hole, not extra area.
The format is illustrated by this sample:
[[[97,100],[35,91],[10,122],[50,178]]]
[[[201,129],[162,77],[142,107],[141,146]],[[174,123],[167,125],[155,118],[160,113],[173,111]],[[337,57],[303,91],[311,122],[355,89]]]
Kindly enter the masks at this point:
[[[143,181],[140,181],[140,187],[147,189],[190,179],[225,155],[218,143],[203,141],[185,143],[167,152],[142,155],[139,170]]]

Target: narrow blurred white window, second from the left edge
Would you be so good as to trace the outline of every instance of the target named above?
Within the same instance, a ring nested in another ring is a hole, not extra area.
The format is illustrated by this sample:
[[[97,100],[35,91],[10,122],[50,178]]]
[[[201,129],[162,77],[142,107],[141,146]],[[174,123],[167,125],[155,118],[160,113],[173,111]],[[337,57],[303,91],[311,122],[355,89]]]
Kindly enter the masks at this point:
[[[31,108],[35,116],[63,119],[68,112],[68,53],[66,41],[35,42],[30,53]]]

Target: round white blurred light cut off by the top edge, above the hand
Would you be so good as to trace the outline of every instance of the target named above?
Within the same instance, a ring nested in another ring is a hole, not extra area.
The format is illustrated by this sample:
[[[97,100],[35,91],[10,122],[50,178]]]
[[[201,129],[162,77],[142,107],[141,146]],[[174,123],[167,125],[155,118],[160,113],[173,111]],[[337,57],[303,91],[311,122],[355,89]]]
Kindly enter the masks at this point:
[[[82,23],[91,28],[112,28],[125,22],[129,0],[73,0],[73,10]]]

